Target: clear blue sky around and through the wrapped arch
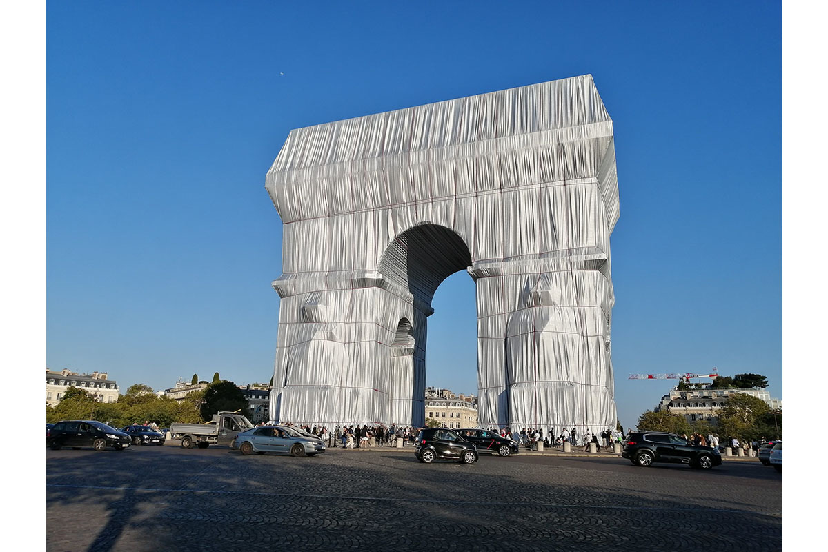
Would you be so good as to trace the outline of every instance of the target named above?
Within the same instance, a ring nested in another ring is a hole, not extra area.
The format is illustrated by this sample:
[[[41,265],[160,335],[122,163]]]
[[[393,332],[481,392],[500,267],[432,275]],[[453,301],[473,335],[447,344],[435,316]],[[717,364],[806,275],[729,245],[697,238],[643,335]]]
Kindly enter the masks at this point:
[[[776,2],[49,2],[51,369],[123,390],[272,375],[296,127],[590,73],[614,120],[623,425],[670,382],[757,372],[782,398]],[[429,385],[476,391],[474,284],[440,286]]]

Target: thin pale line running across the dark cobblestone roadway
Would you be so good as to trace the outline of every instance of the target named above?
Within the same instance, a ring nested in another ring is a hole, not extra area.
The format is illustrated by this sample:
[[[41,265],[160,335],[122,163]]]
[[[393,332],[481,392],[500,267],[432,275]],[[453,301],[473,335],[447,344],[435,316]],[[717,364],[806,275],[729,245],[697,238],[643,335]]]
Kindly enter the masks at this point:
[[[437,498],[388,498],[388,497],[350,497],[346,495],[307,495],[286,492],[253,492],[253,491],[214,491],[209,489],[164,489],[154,487],[100,487],[96,485],[60,485],[46,483],[46,487],[70,488],[70,489],[95,489],[99,491],[147,491],[147,492],[192,492],[204,494],[226,494],[226,495],[247,495],[255,497],[288,497],[288,498],[322,498],[325,500],[363,500],[375,502],[426,502],[436,504],[454,504],[457,506],[546,506],[550,508],[592,508],[595,510],[640,510],[640,511],[711,511],[720,513],[744,514],[752,513],[757,516],[780,517],[782,512],[760,512],[730,510],[727,508],[705,508],[703,506],[688,506],[686,508],[664,508],[647,506],[586,506],[584,504],[556,504],[552,502],[480,502],[480,501],[459,501],[440,500]]]

